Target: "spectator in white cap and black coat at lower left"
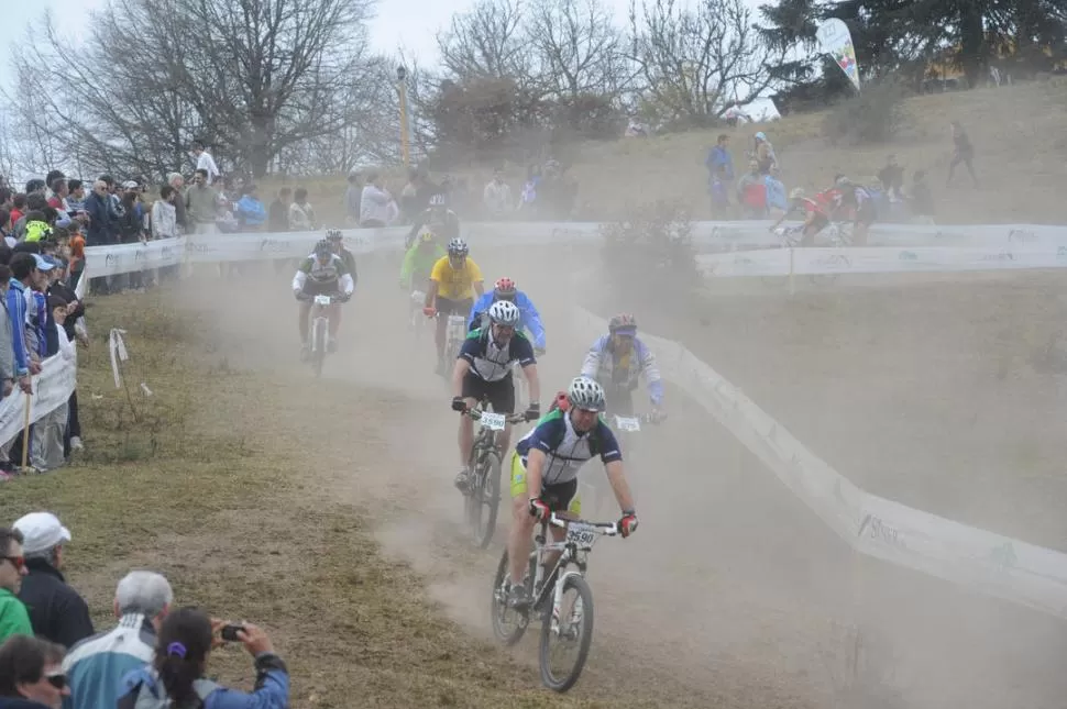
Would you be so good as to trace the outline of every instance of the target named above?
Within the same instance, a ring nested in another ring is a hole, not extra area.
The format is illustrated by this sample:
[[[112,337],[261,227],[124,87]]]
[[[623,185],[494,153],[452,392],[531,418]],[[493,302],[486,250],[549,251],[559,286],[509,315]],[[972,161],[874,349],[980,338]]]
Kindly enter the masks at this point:
[[[31,512],[14,529],[25,540],[22,553],[30,573],[22,579],[19,599],[30,611],[33,632],[65,647],[91,635],[89,607],[59,572],[69,530],[52,512]]]

